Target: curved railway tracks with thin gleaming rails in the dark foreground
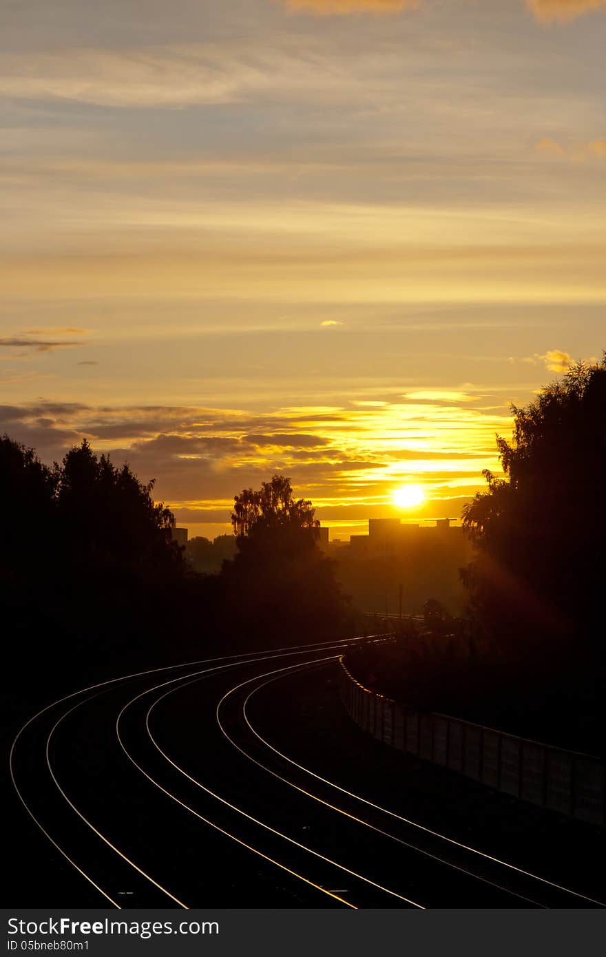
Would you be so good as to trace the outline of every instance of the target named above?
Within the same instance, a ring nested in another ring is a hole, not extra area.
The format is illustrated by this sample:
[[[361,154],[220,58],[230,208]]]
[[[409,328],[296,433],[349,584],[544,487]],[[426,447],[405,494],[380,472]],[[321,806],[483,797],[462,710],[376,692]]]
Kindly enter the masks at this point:
[[[12,743],[19,801],[114,907],[603,906],[348,790],[260,733],[254,696],[330,667],[348,643],[203,659],[55,701]]]

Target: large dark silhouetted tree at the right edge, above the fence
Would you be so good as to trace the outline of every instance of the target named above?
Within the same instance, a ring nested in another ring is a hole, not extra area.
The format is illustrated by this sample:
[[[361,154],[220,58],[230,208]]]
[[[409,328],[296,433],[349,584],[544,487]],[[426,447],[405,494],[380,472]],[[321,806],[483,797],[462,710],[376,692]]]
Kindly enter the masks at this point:
[[[502,645],[600,640],[606,573],[606,358],[579,363],[526,408],[511,442],[497,436],[505,479],[463,509],[478,557],[463,582],[484,634]]]

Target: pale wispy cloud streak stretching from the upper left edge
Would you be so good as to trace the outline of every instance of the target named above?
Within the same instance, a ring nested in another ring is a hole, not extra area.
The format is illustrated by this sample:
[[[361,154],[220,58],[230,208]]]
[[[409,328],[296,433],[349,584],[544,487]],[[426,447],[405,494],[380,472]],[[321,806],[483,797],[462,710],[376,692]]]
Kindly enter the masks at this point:
[[[0,54],[0,95],[14,100],[60,100],[111,108],[225,105],[293,94],[351,97],[351,70],[335,70],[298,39],[274,45],[223,42],[116,50]]]

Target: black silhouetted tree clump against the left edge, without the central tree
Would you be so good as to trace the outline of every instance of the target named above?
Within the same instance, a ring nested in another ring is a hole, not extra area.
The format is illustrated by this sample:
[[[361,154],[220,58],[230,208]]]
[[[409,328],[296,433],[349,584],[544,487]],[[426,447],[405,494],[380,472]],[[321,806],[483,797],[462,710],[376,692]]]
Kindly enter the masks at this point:
[[[4,650],[31,677],[69,683],[179,651],[195,590],[152,483],[88,442],[47,466],[0,438]]]

